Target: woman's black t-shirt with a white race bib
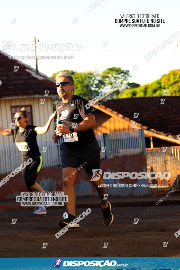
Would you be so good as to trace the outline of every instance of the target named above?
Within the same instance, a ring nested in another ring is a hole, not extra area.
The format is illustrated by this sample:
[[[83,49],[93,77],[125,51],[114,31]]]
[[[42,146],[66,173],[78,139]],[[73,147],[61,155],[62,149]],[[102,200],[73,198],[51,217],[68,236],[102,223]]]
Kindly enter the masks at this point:
[[[36,125],[27,125],[23,132],[19,131],[18,126],[15,129],[11,129],[15,144],[22,156],[35,158],[41,155],[36,141],[37,133],[34,130],[35,127]]]

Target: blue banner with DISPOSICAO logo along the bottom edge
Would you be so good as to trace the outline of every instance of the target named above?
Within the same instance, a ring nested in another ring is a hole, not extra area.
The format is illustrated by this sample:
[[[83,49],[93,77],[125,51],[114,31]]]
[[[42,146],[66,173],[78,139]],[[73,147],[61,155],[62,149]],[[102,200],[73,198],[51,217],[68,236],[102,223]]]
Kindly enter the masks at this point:
[[[2,270],[179,269],[180,257],[0,258]]]

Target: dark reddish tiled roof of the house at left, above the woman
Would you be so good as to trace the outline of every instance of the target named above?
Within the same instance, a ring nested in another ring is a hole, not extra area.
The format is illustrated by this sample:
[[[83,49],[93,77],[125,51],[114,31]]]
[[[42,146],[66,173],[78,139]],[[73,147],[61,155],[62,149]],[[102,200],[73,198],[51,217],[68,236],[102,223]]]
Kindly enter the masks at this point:
[[[49,95],[57,95],[55,80],[19,60],[9,59],[9,55],[0,51],[0,98],[8,95],[41,95],[49,90]],[[13,71],[19,66],[18,71]]]

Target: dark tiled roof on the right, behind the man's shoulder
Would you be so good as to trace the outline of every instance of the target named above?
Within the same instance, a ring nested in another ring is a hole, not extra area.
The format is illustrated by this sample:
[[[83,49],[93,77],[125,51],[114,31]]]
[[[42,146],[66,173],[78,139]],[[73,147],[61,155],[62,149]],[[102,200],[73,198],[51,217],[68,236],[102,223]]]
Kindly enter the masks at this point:
[[[164,104],[160,99],[165,99]],[[180,96],[110,99],[104,105],[156,132],[167,136],[180,133]],[[138,118],[133,118],[134,113],[139,113]]]

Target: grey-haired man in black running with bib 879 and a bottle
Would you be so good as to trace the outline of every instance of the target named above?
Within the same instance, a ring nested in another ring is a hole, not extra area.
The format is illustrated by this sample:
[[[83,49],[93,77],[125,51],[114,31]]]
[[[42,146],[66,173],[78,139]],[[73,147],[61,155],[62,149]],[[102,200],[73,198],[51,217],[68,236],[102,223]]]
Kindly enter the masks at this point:
[[[56,87],[59,97],[62,98],[56,106],[57,114],[63,119],[63,127],[56,127],[55,134],[52,136],[54,143],[57,143],[59,136],[63,136],[64,142],[60,145],[61,149],[61,168],[63,175],[63,192],[68,195],[66,203],[68,218],[59,222],[60,227],[65,227],[75,219],[75,191],[74,183],[76,178],[75,170],[80,164],[84,166],[89,179],[93,176],[93,169],[100,169],[100,151],[98,141],[95,138],[93,127],[95,126],[95,117],[91,107],[86,109],[85,105],[89,102],[74,95],[74,79],[67,72],[60,72],[56,76]],[[76,126],[73,128],[74,123]],[[68,178],[67,181],[66,177]],[[104,184],[100,177],[98,181],[91,182],[101,199],[101,209],[103,213],[104,225],[110,225],[113,222],[111,213],[111,204],[104,198],[106,194],[105,187],[98,187],[98,184]],[[66,215],[64,215],[66,217]],[[73,227],[79,227],[78,222]]]

